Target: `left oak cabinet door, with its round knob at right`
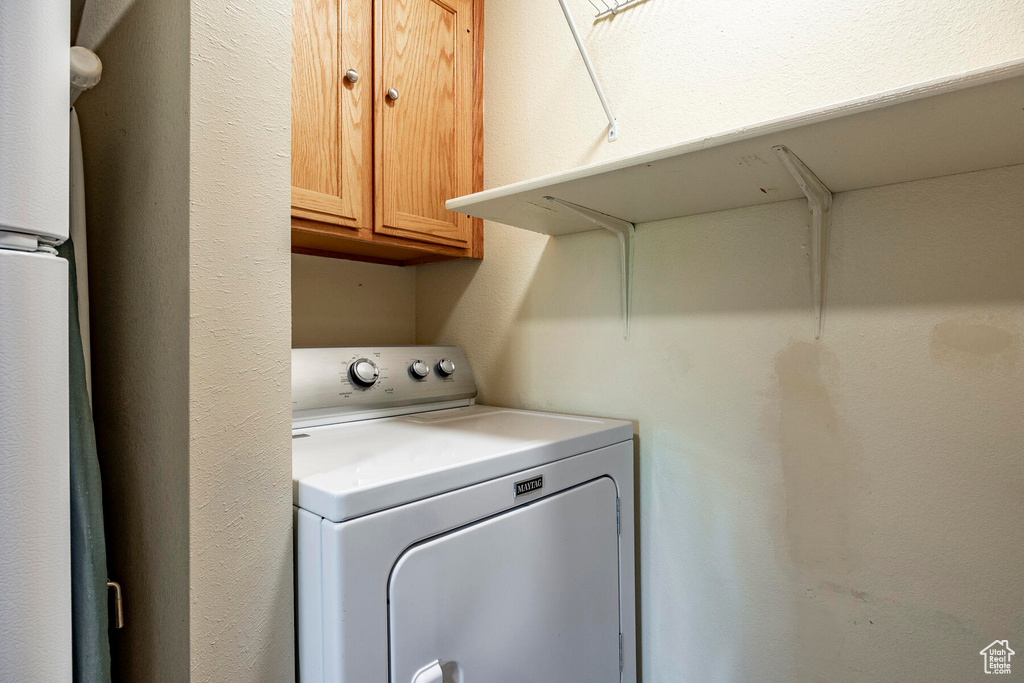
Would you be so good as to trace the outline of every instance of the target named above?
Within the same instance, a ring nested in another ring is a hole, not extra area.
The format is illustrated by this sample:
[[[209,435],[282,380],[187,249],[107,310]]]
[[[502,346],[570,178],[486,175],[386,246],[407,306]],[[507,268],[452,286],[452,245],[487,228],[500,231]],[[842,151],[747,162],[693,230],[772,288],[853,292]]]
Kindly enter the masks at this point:
[[[293,0],[292,215],[369,228],[372,0]],[[358,75],[353,83],[345,74]]]

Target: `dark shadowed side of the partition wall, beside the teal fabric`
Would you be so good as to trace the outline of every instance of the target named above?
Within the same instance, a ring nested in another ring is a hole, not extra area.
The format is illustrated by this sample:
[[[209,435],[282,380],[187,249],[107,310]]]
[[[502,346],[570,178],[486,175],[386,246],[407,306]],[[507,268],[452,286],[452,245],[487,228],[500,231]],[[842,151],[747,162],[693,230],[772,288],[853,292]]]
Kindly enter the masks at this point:
[[[82,124],[116,681],[188,677],[188,3],[139,0]]]

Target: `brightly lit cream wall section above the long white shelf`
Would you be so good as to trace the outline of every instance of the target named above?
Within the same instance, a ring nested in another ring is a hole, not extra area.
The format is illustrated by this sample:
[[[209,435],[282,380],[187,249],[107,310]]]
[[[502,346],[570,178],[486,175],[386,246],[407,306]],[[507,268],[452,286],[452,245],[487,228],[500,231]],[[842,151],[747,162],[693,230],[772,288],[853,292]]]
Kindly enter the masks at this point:
[[[599,4],[599,3],[598,3]],[[486,6],[487,187],[1020,57],[1017,0],[646,0],[591,25],[606,120],[557,2]]]

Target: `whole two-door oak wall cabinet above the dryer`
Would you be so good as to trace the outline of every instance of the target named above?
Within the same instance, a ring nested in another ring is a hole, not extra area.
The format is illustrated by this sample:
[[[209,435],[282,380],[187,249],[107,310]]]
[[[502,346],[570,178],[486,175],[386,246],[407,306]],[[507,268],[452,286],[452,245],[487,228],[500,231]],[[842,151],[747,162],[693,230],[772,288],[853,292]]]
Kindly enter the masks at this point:
[[[482,0],[293,0],[292,251],[483,256]]]

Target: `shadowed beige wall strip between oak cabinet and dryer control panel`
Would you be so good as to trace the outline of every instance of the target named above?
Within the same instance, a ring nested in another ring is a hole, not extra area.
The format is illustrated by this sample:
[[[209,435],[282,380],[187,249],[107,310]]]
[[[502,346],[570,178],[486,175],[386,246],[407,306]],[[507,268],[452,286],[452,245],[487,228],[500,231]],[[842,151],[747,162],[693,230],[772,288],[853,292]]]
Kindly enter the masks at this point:
[[[292,255],[292,346],[416,343],[416,268]]]

